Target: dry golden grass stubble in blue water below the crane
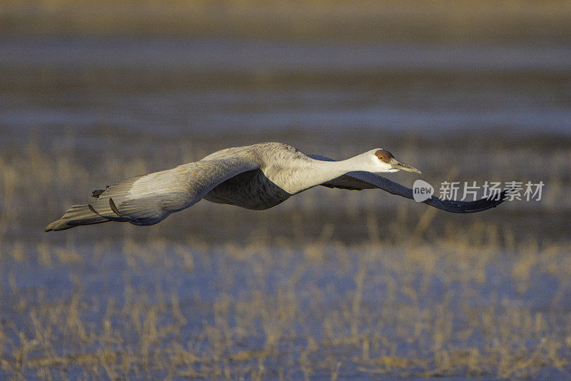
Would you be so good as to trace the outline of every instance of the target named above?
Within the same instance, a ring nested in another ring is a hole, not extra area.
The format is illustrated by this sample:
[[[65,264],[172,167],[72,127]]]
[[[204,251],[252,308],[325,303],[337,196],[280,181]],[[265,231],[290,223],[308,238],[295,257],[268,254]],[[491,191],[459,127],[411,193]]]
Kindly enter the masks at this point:
[[[568,247],[542,250],[542,264],[515,278],[510,269],[527,256],[494,249],[482,260],[486,245],[458,255],[446,245],[338,243],[324,248],[327,259],[255,243],[209,253],[184,245],[193,270],[171,245],[131,245],[105,251],[121,264],[107,258],[97,272],[118,285],[95,290],[92,260],[72,267],[50,250],[39,273],[75,277],[56,286],[60,295],[18,285],[3,260],[14,266],[2,293],[6,375],[569,376],[568,269],[547,270]]]

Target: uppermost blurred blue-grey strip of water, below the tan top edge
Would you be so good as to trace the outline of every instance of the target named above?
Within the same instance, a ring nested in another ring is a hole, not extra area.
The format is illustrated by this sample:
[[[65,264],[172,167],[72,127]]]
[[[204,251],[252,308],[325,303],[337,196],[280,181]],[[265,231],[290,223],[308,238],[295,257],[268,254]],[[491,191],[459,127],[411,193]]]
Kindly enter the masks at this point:
[[[547,71],[571,68],[571,46],[395,44],[228,39],[0,39],[1,65],[201,71]]]

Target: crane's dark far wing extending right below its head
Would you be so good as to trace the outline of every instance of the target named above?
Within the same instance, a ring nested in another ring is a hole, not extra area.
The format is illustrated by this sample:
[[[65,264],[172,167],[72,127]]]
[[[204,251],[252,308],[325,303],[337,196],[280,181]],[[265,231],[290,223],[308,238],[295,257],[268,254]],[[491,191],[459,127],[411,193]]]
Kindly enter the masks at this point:
[[[333,159],[326,158],[325,156],[319,155],[308,155],[310,158],[321,161],[333,161]],[[383,189],[388,193],[393,195],[400,195],[405,198],[413,199],[413,190],[390,181],[388,178],[383,176],[375,175],[375,173],[370,173],[366,171],[353,171],[345,173],[343,176],[334,178],[331,181],[321,184],[328,188],[342,188],[351,190],[363,190],[363,189]],[[434,208],[446,210],[451,213],[475,213],[481,212],[482,210],[487,210],[490,208],[495,208],[500,205],[509,191],[502,191],[500,195],[495,195],[493,199],[491,198],[481,198],[475,201],[457,201],[457,200],[442,200],[438,197],[432,196],[428,200],[423,201],[423,203],[433,206]]]

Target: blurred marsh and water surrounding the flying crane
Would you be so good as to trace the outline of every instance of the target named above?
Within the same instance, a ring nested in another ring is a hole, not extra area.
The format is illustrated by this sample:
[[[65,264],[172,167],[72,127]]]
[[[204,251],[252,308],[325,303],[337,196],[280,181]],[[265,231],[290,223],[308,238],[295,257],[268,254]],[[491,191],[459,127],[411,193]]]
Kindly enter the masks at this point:
[[[4,0],[0,375],[571,377],[570,24],[569,1]],[[43,231],[263,141],[382,147],[437,192],[545,187],[473,215],[314,188]]]

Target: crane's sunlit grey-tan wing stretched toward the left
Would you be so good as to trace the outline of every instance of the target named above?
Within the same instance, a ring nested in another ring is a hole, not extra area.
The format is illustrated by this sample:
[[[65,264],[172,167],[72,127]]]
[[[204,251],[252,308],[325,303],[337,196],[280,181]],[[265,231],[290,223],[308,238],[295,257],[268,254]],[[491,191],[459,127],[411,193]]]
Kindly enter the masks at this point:
[[[223,181],[258,168],[248,156],[210,158],[167,171],[134,176],[103,191],[95,191],[91,203],[74,205],[46,231],[78,225],[123,221],[153,225],[171,213],[188,208]]]

